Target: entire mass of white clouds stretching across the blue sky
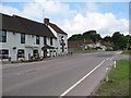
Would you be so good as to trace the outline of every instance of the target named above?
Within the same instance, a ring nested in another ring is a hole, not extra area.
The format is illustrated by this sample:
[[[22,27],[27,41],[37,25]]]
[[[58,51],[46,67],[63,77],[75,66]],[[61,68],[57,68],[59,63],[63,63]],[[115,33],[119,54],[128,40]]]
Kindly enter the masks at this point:
[[[83,14],[78,9],[72,10],[69,3],[49,0],[44,0],[43,3],[40,0],[25,3],[21,11],[16,8],[0,4],[0,12],[5,14],[17,14],[38,22],[43,22],[43,15],[45,15],[67,32],[69,37],[91,29],[97,30],[103,37],[106,35],[110,36],[117,30],[123,34],[129,33],[128,20],[117,19],[111,12],[98,12],[98,4],[94,2],[87,3],[84,10]]]

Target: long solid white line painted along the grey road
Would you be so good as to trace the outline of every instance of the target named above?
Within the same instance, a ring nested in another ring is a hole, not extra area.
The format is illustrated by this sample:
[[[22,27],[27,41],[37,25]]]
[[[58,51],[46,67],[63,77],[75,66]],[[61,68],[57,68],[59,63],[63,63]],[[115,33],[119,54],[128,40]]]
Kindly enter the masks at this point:
[[[109,58],[108,58],[109,59]],[[107,60],[108,60],[107,59]],[[84,77],[82,77],[79,82],[76,82],[74,85],[72,85],[70,88],[68,88],[64,93],[60,95],[60,98],[66,96],[70,90],[72,90],[75,86],[78,86],[81,82],[83,82],[87,76],[90,76],[96,69],[98,69],[106,60],[102,61],[96,68],[94,68],[90,73],[87,73]]]

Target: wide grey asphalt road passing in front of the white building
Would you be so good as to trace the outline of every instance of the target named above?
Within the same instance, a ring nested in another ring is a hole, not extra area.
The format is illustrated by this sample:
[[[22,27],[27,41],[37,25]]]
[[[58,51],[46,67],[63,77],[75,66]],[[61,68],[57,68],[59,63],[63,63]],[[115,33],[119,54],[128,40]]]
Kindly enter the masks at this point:
[[[90,96],[118,52],[74,54],[3,65],[3,96]]]

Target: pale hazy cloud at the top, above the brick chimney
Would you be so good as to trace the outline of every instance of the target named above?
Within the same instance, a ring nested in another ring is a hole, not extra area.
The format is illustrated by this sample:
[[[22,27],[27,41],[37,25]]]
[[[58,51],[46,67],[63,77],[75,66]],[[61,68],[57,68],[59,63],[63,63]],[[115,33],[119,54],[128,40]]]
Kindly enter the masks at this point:
[[[35,0],[33,3],[27,3],[24,7],[23,14],[34,17],[43,17],[43,15],[66,15],[69,12],[69,5],[61,2]],[[28,13],[29,12],[29,13]]]

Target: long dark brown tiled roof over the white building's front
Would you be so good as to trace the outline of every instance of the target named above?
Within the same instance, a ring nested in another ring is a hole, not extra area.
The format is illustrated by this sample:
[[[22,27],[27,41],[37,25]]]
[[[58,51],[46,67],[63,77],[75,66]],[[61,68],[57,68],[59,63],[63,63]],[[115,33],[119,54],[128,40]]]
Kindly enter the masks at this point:
[[[2,15],[2,28],[0,29],[56,38],[52,32],[43,23],[31,21],[17,15]]]

